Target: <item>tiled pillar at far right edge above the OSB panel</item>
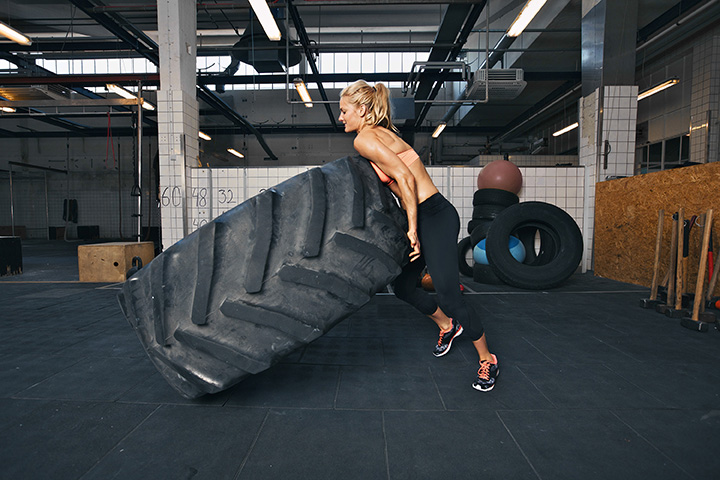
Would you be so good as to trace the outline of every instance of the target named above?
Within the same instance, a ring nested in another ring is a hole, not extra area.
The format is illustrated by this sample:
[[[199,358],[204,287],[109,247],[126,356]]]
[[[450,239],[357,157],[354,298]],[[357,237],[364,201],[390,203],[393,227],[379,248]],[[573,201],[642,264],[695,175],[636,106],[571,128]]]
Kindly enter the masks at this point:
[[[690,161],[720,160],[720,36],[707,36],[693,47],[690,100]]]

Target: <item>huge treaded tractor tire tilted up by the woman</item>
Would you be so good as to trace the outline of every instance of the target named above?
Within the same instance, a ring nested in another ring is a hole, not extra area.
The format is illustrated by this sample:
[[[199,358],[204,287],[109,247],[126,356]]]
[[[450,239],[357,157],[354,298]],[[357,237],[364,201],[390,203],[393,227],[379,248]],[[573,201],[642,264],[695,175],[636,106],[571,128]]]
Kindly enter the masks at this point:
[[[407,220],[346,157],[247,200],[123,285],[120,305],[170,385],[216,393],[320,337],[407,262]]]

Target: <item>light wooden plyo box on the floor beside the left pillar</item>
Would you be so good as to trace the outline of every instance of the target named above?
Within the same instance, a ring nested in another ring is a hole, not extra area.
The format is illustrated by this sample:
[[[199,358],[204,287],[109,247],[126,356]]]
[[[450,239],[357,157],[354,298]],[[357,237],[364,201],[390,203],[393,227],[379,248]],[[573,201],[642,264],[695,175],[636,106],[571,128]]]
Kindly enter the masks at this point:
[[[78,245],[81,282],[124,282],[133,257],[147,265],[155,256],[153,242],[109,242]]]

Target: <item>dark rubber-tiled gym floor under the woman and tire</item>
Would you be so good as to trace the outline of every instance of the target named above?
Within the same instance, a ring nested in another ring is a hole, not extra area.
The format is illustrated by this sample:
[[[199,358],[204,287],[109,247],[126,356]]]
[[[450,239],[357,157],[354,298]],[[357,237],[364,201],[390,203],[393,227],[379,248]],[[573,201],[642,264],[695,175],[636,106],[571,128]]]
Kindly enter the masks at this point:
[[[377,295],[234,388],[185,400],[116,301],[78,283],[77,244],[24,242],[0,277],[0,477],[716,479],[720,332],[591,273],[551,291],[463,279],[500,360],[471,388],[459,337]]]

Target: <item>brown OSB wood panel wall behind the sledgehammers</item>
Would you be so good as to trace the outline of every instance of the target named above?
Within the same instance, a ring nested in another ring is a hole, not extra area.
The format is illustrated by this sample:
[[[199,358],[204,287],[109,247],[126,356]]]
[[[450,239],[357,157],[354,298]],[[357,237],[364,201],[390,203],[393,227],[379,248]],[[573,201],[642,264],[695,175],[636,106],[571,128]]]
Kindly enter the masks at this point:
[[[681,207],[685,218],[713,209],[714,250],[716,257],[720,255],[719,162],[600,182],[595,202],[594,258],[598,276],[650,287],[660,209],[665,210],[661,280],[669,265],[672,214]],[[695,225],[687,259],[690,292],[695,291],[701,243],[702,226]],[[720,295],[720,285],[714,295]]]

